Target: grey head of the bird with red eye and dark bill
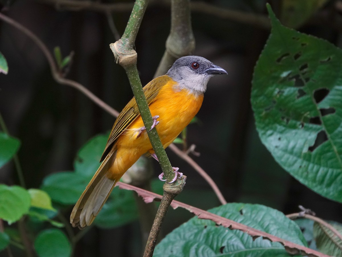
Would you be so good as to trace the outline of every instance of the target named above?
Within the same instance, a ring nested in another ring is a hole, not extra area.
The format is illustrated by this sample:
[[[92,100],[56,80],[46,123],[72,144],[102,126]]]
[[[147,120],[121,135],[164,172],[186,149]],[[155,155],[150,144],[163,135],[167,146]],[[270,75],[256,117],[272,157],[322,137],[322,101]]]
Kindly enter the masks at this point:
[[[194,94],[202,94],[213,75],[227,72],[206,58],[184,56],[176,60],[166,74],[178,83],[180,89],[186,88]]]

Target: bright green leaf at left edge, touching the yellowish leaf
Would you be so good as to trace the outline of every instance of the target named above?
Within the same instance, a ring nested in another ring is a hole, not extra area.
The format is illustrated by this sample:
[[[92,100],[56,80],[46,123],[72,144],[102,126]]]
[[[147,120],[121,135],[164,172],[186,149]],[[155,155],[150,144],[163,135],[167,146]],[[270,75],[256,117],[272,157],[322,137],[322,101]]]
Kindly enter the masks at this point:
[[[24,188],[0,184],[0,195],[0,219],[11,224],[28,212],[31,197]]]

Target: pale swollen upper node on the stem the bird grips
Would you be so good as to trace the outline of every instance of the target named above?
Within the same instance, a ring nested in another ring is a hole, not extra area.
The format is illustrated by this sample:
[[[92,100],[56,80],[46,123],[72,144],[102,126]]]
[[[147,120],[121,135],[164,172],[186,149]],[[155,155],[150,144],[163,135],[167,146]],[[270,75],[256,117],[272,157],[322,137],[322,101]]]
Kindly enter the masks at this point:
[[[134,49],[124,49],[122,44],[122,39],[119,39],[115,43],[111,43],[109,46],[114,53],[115,62],[126,69],[128,66],[136,65],[137,53]]]

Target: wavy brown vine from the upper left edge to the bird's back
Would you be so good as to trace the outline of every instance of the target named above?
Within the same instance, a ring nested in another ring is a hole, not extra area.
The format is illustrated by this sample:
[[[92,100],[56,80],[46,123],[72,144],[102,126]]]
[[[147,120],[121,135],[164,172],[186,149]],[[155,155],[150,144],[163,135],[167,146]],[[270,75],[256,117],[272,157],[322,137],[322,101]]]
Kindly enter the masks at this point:
[[[8,24],[14,26],[15,28],[19,29],[21,32],[23,32],[25,35],[27,35],[32,41],[34,41],[37,46],[42,50],[45,58],[48,60],[48,63],[50,65],[50,70],[53,78],[56,82],[71,86],[76,88],[77,90],[81,91],[84,95],[86,95],[89,99],[91,99],[93,102],[95,102],[98,106],[100,106],[105,111],[109,112],[111,115],[118,116],[119,112],[111,108],[109,105],[107,105],[105,102],[103,102],[100,98],[95,96],[90,90],[88,90],[86,87],[81,85],[80,83],[73,81],[71,79],[67,79],[61,76],[60,71],[57,68],[57,65],[54,61],[54,58],[52,54],[50,53],[47,46],[44,45],[44,43],[35,35],[33,34],[29,29],[24,27],[23,25],[19,24],[18,22],[14,21],[10,17],[0,13],[0,20],[3,20],[7,22]]]

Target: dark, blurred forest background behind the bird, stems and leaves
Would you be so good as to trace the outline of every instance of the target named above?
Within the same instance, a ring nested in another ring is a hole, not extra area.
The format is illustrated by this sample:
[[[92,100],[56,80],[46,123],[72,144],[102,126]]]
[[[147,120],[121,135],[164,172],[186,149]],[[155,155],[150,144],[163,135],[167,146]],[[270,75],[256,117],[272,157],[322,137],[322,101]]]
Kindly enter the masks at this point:
[[[74,51],[67,78],[83,84],[118,111],[132,98],[126,73],[115,63],[109,48],[116,40],[103,12],[59,8],[58,0],[0,2],[3,14],[34,32],[51,51],[56,46],[61,48],[63,56]],[[288,26],[299,19],[293,16],[294,10],[292,14],[291,10],[284,12],[286,1],[202,2],[223,11],[239,11],[238,17],[242,18],[243,14],[267,17],[265,3],[270,2],[276,15]],[[294,26],[340,46],[342,1],[320,2],[322,6],[317,11]],[[314,193],[280,168],[255,130],[250,107],[251,79],[269,28],[241,21],[229,12],[210,14],[205,9],[193,9],[196,39],[193,54],[221,66],[228,75],[210,80],[197,115],[199,121],[188,126],[187,142],[195,144],[196,151],[200,152],[200,157],[192,158],[218,184],[228,202],[263,204],[285,214],[298,212],[298,205],[303,205],[320,218],[342,222],[341,204]],[[123,8],[112,13],[120,35],[130,11]],[[153,78],[165,51],[170,17],[169,1],[150,1],[135,42],[143,85]],[[8,75],[0,74],[0,112],[10,134],[21,140],[18,156],[27,187],[39,188],[48,174],[72,170],[78,149],[94,135],[108,132],[115,118],[76,89],[56,83],[37,45],[2,21],[0,51],[9,65]],[[171,150],[167,154],[171,164],[187,175],[186,186],[177,200],[202,209],[220,205],[212,189],[192,167]],[[154,160],[151,162],[157,177],[160,167]],[[12,162],[1,168],[0,183],[18,184]],[[71,208],[65,210],[66,218]],[[186,210],[170,210],[163,234],[192,216]],[[110,230],[94,227],[78,243],[75,256],[113,256],[114,248],[115,256],[140,256],[144,244],[138,221]]]

